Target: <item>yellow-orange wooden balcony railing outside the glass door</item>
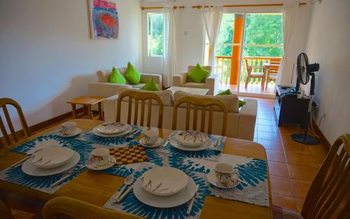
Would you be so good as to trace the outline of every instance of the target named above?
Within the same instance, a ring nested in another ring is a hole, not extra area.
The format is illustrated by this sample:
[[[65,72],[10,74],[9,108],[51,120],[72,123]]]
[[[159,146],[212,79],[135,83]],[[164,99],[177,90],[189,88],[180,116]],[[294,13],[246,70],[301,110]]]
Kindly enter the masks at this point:
[[[281,62],[281,57],[243,57],[241,62],[241,80],[240,83],[246,83],[246,60],[248,64],[252,66],[262,66],[264,63],[270,62]],[[232,57],[230,56],[216,56],[216,73],[219,75],[220,82],[228,84],[230,83],[230,72],[231,72],[231,61]],[[255,69],[254,71],[262,71],[261,69]],[[261,78],[254,78],[249,83],[258,84],[260,83]]]

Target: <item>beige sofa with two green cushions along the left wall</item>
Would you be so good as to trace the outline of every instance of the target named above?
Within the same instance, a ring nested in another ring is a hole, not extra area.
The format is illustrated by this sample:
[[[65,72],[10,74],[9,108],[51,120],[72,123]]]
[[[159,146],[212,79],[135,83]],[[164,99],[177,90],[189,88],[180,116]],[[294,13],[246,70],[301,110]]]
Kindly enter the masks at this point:
[[[126,68],[118,68],[118,70],[120,71],[120,73],[125,76],[125,72],[127,71]],[[99,85],[102,87],[102,89],[104,89],[103,87],[109,87],[109,89],[112,89],[112,87],[118,87],[118,86],[124,86],[124,87],[133,87],[135,89],[139,89],[141,87],[143,87],[148,80],[150,79],[154,79],[155,83],[158,84],[158,87],[160,87],[160,90],[162,90],[162,75],[158,75],[158,74],[150,74],[150,73],[141,73],[141,78],[140,78],[140,83],[138,85],[131,85],[130,82],[127,80],[127,84],[126,85],[119,85],[119,84],[115,84],[115,83],[109,83],[109,76],[111,75],[111,71],[108,70],[100,70],[96,72],[96,76],[97,76],[97,83],[99,83]],[[108,88],[106,88],[108,89]],[[111,94],[113,95],[113,94]],[[106,97],[110,97],[106,96]]]

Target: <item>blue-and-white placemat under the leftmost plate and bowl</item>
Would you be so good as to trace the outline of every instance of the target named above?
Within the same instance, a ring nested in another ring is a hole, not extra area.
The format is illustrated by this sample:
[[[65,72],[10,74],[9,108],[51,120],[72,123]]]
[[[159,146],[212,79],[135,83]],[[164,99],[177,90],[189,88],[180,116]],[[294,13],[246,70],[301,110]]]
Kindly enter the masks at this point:
[[[90,157],[90,153],[94,148],[94,146],[92,146],[92,143],[87,141],[67,139],[48,134],[45,136],[39,136],[38,138],[28,141],[27,143],[23,143],[20,146],[12,148],[11,150],[14,152],[31,155],[36,150],[49,146],[62,146],[71,148],[72,150],[75,150],[77,153],[79,153],[80,161],[78,164],[76,164],[76,167],[64,171],[62,174],[55,174],[45,177],[29,176],[27,174],[24,174],[22,171],[22,166],[17,168],[9,167],[0,171],[0,179],[10,183],[15,183],[17,185],[25,186],[27,188],[52,194],[85,170],[85,168],[80,169],[80,171],[78,171],[76,174],[73,174],[59,185],[56,185],[55,187],[50,186],[52,183],[55,183],[66,174],[72,173],[74,170],[78,170],[80,167],[85,166],[85,161]]]

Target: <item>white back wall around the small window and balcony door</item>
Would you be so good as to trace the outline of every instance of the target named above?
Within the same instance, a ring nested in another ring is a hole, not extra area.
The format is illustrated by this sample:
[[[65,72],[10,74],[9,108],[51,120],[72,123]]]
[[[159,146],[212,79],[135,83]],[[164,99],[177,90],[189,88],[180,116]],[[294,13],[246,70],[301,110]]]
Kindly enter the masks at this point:
[[[141,0],[142,1],[142,0]],[[202,63],[204,60],[204,26],[202,20],[202,13],[199,9],[193,9],[192,6],[196,5],[225,5],[225,4],[253,4],[253,3],[283,3],[293,0],[177,0],[176,6],[186,6],[186,8],[179,10],[179,22],[177,27],[177,45],[178,45],[178,66],[179,72],[186,71],[189,64]],[[167,6],[167,1],[154,1],[149,2],[143,0],[143,6]],[[232,13],[269,13],[269,12],[281,12],[281,6],[271,7],[244,7],[244,8],[225,8],[226,12]],[[309,25],[310,5],[300,7],[300,13],[297,18],[297,27],[295,29],[295,38],[292,41],[292,50],[290,56],[295,57],[304,51],[305,43],[307,41],[307,31]],[[146,15],[144,13],[144,19]],[[144,24],[144,28],[146,23]],[[187,33],[187,34],[186,34]],[[162,73],[162,58],[154,58],[151,62],[145,62],[147,59],[146,54],[146,33],[144,33],[144,70],[148,73]],[[293,59],[288,64],[290,66],[290,73],[286,73],[282,78],[282,84],[290,85],[291,74],[293,70]]]

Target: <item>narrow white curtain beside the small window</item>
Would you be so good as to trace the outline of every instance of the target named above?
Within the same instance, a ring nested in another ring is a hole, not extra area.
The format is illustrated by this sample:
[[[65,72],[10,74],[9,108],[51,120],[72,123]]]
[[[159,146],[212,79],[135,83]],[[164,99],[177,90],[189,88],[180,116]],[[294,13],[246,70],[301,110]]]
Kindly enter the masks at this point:
[[[173,7],[164,8],[163,26],[163,85],[172,86],[176,74],[176,20],[177,13]]]

